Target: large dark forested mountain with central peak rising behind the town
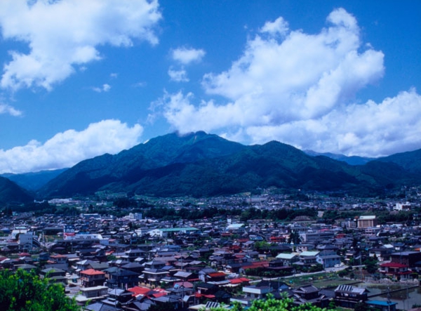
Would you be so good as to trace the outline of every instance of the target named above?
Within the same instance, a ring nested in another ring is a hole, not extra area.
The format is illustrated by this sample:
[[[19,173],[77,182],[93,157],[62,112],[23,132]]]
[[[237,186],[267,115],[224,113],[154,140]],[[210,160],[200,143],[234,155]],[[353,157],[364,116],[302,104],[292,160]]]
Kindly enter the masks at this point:
[[[351,166],[311,157],[278,142],[244,146],[204,132],[163,135],[116,155],[104,154],[69,168],[39,190],[40,197],[69,197],[98,190],[159,197],[195,197],[279,187],[377,194],[420,183],[396,163]]]

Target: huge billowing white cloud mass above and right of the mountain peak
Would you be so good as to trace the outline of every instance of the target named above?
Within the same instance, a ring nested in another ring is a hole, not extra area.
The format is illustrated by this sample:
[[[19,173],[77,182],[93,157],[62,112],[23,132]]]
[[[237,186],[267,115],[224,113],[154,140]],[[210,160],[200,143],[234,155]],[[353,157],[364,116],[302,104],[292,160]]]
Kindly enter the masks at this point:
[[[251,143],[366,156],[419,148],[420,95],[413,89],[356,104],[356,93],[382,78],[384,55],[361,42],[356,18],[343,8],[326,22],[317,34],[290,30],[283,18],[266,22],[227,71],[203,77],[218,102],[166,94],[163,116],[180,133],[205,130]]]

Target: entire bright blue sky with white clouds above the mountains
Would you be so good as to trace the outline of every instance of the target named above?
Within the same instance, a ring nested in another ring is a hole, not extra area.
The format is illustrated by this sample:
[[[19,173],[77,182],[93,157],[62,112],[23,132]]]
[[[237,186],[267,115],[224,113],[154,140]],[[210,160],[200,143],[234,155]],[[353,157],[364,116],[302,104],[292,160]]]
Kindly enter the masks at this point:
[[[420,1],[0,2],[0,173],[173,131],[421,148]]]

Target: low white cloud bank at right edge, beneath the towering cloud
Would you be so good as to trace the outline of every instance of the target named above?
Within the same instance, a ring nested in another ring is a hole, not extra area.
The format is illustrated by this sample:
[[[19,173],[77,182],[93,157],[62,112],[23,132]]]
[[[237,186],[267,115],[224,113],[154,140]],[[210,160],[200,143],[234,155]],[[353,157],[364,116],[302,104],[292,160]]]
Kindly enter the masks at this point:
[[[421,146],[421,95],[403,91],[380,103],[348,105],[319,119],[247,128],[255,143],[278,139],[300,149],[380,157]]]

